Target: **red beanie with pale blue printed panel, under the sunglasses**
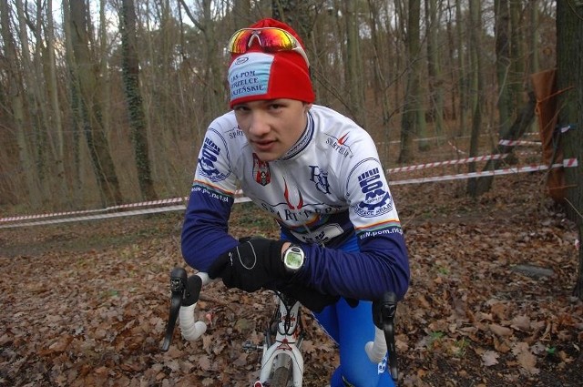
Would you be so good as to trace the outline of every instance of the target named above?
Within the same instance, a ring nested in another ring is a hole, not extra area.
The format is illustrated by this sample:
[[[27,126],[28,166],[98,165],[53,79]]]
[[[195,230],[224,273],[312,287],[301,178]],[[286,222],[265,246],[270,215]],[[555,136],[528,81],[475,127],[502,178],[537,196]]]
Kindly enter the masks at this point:
[[[277,27],[302,39],[290,25],[274,19],[262,19],[250,28]],[[245,54],[231,56],[229,67],[230,107],[260,99],[290,98],[312,103],[315,99],[310,69],[300,53],[279,51],[264,53],[259,44]]]

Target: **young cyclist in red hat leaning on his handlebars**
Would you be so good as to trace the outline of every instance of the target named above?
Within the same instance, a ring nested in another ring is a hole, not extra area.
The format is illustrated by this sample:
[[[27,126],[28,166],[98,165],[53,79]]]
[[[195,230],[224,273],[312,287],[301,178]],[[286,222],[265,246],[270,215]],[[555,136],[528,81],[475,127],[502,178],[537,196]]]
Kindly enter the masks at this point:
[[[190,192],[182,253],[229,288],[280,290],[314,312],[336,341],[332,387],[393,385],[373,340],[371,300],[403,298],[403,232],[373,139],[314,105],[308,58],[289,25],[263,19],[229,43],[230,107],[210,123]],[[281,240],[235,239],[242,188],[281,226]],[[386,362],[386,359],[385,361]]]

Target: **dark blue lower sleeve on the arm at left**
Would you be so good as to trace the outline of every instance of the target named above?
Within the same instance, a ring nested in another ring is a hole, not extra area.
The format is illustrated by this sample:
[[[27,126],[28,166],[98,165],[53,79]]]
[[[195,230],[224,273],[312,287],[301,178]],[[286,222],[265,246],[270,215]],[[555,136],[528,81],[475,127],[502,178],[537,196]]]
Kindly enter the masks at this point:
[[[196,270],[208,271],[212,262],[239,242],[229,235],[228,221],[233,198],[195,184],[182,226],[184,260]]]

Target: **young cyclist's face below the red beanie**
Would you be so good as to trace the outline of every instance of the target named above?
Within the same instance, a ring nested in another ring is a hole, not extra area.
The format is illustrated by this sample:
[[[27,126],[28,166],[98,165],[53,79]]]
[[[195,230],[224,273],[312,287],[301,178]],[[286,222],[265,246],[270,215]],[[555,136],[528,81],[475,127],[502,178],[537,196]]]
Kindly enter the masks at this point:
[[[281,158],[302,136],[312,104],[295,99],[262,99],[235,105],[237,124],[263,161]]]

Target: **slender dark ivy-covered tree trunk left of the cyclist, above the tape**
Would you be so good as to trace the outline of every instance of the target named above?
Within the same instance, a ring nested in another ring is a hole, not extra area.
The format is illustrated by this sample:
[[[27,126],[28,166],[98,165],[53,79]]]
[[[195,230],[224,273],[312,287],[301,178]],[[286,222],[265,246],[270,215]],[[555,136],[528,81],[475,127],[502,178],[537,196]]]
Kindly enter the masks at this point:
[[[138,183],[142,198],[157,199],[149,167],[148,140],[145,136],[146,115],[139,91],[139,62],[136,47],[136,9],[134,0],[123,0],[119,26],[121,29],[123,80],[128,102],[129,125],[138,169]]]

